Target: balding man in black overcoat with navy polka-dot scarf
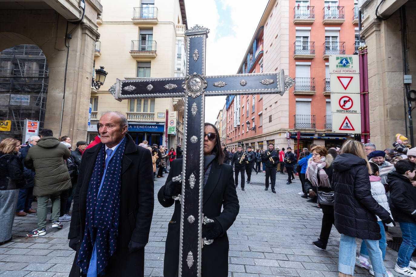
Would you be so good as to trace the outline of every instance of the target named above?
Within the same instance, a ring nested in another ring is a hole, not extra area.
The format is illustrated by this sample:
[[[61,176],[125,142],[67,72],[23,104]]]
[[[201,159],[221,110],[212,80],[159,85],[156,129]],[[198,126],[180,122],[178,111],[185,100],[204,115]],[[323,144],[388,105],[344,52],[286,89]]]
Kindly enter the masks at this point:
[[[69,276],[81,270],[83,276],[103,270],[106,277],[144,276],[154,208],[151,152],[126,134],[125,115],[106,112],[99,126],[101,142],[84,151],[79,169],[68,233],[77,253]]]

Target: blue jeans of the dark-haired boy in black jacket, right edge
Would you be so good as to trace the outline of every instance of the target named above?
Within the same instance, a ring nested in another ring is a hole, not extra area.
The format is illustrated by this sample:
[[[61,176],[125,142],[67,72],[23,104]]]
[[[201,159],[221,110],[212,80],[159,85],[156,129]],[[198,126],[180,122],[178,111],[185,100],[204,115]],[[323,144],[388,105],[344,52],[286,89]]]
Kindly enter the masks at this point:
[[[407,267],[409,266],[409,260],[412,257],[412,253],[416,249],[416,223],[399,223],[403,242],[401,243],[399,252],[397,253],[397,265],[399,267]]]

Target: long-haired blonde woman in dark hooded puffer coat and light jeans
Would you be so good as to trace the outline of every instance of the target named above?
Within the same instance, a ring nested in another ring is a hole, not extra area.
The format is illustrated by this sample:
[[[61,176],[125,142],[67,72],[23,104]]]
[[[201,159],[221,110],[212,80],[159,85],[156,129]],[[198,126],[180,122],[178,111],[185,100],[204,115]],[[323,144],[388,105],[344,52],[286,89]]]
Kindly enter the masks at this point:
[[[339,276],[354,274],[356,238],[366,243],[375,276],[388,276],[378,240],[380,226],[376,215],[388,224],[390,214],[371,196],[369,174],[372,173],[364,146],[355,140],[344,143],[332,167],[332,186],[335,191],[335,228],[341,233],[339,241]]]

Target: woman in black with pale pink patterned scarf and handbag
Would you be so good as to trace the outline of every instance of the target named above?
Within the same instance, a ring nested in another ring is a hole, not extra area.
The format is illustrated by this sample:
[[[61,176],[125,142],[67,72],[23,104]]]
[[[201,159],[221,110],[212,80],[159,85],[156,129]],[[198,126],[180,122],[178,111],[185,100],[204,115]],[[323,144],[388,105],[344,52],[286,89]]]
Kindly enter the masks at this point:
[[[332,162],[334,159],[323,145],[317,145],[312,148],[312,158],[309,159],[306,169],[305,192],[310,197],[317,196],[315,190],[329,193],[334,191],[331,186],[332,181]],[[319,202],[319,198],[318,198]],[[319,249],[327,249],[329,234],[331,233],[332,224],[334,224],[334,204],[325,205],[319,203],[324,215],[322,216],[321,234],[317,241],[312,242]]]

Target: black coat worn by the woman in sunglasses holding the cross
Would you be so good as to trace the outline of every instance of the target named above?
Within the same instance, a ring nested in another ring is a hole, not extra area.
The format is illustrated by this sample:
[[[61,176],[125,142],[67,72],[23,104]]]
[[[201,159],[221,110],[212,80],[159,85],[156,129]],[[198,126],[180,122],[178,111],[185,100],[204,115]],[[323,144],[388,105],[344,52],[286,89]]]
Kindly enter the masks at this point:
[[[182,172],[182,159],[175,159],[171,164],[166,184],[173,176]],[[166,186],[165,184],[165,186]],[[165,199],[162,186],[158,192],[159,203],[163,207],[175,204],[175,211],[168,223],[166,238],[164,277],[177,277],[179,264],[179,232],[181,222],[181,203],[173,199]],[[221,212],[221,207],[223,211]],[[237,192],[235,191],[233,168],[229,164],[221,164],[215,160],[212,163],[208,180],[203,189],[203,213],[208,218],[215,218],[221,225],[223,232],[210,245],[202,248],[202,277],[228,276],[228,236],[227,230],[234,223],[238,215]],[[183,238],[187,240],[187,238]]]

